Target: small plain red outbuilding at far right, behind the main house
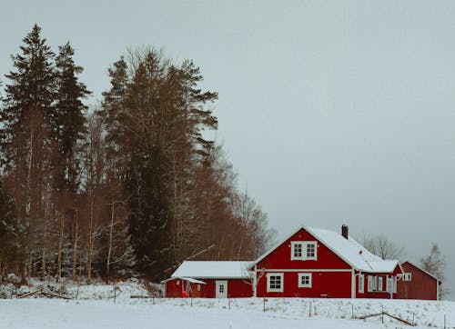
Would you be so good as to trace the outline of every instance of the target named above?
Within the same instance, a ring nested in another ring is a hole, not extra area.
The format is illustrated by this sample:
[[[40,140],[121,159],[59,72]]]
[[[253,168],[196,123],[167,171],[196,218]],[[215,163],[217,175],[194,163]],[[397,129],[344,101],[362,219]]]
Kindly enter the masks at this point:
[[[403,276],[398,282],[398,298],[439,300],[441,281],[410,262],[401,264]]]

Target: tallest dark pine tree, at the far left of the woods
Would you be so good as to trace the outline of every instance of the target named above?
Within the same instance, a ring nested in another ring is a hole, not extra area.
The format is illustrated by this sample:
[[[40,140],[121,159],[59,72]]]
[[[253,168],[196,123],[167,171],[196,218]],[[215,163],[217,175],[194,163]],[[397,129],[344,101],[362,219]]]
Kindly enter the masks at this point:
[[[9,83],[0,117],[1,165],[15,197],[18,219],[26,228],[25,276],[35,270],[37,242],[46,241],[45,204],[49,203],[44,197],[49,184],[47,155],[56,95],[55,55],[40,34],[41,28],[35,25],[23,40],[21,54],[12,56],[15,71],[6,75]],[[44,257],[44,245],[39,248]]]

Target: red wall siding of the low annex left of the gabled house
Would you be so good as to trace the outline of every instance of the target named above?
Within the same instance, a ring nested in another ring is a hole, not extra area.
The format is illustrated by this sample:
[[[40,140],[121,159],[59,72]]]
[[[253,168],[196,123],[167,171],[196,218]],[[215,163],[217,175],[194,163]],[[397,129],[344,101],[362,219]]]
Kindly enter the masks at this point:
[[[200,290],[197,290],[197,284],[191,284],[191,293],[188,297],[215,298],[216,297],[216,282],[218,279],[198,279],[206,284],[200,284]],[[243,279],[219,279],[227,280],[227,297],[241,298],[251,297],[253,295],[252,285],[248,284],[248,280]],[[178,283],[178,284],[177,284]],[[187,288],[187,282],[183,282],[184,289]],[[166,282],[167,298],[182,297],[182,280],[174,279]]]

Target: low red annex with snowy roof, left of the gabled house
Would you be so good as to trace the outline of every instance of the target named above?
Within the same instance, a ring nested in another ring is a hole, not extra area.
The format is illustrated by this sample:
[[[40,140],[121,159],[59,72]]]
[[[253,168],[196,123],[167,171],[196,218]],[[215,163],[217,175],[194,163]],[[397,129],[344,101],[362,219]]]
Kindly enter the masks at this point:
[[[238,298],[252,296],[252,262],[183,262],[164,281],[167,297]],[[185,292],[185,293],[184,293]]]

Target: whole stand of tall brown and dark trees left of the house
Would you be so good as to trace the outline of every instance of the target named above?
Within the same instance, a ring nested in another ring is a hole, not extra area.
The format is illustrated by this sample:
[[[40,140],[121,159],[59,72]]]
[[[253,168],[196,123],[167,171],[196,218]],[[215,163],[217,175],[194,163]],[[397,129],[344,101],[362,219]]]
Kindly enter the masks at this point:
[[[100,105],[69,44],[35,25],[0,105],[0,277],[167,277],[183,260],[248,260],[274,238],[217,129],[191,60],[128,51]],[[1,82],[0,82],[1,83]]]

